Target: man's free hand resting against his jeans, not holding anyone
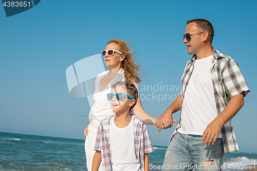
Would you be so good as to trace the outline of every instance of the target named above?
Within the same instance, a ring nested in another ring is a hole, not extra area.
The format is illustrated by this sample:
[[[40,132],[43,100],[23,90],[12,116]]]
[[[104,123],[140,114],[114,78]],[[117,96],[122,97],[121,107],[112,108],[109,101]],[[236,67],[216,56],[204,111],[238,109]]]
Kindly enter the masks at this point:
[[[201,135],[203,138],[201,139],[201,142],[205,145],[213,145],[217,138],[219,133],[222,130],[222,124],[220,124],[218,121],[214,120],[212,121],[205,129],[204,134]]]

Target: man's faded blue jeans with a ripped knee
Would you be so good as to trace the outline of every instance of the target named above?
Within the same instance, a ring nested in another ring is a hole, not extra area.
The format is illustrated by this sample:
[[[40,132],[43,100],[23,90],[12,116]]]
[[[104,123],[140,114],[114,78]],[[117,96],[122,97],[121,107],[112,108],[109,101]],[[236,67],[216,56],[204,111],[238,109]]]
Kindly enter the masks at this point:
[[[201,138],[179,132],[175,134],[167,148],[162,170],[222,170],[225,156],[222,139],[218,138],[213,145],[205,146]],[[208,160],[212,163],[201,164]]]

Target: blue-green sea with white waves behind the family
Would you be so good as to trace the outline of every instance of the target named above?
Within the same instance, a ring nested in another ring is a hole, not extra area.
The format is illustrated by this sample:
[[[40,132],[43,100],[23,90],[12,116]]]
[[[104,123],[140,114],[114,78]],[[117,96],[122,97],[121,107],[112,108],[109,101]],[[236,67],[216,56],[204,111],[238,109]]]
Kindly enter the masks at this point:
[[[84,141],[0,132],[0,171],[87,170]],[[150,170],[161,170],[167,147],[154,146],[149,154]],[[257,154],[233,152],[225,155],[223,170],[257,168]]]

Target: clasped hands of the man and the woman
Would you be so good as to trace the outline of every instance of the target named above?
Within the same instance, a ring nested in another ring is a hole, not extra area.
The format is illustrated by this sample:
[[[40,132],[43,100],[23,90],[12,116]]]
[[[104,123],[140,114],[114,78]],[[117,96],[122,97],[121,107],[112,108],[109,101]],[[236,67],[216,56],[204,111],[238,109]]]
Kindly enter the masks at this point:
[[[173,122],[177,122],[177,120],[172,119],[172,111],[166,110],[159,118],[156,119],[155,125],[158,127],[158,132],[160,132],[161,129],[172,127]]]

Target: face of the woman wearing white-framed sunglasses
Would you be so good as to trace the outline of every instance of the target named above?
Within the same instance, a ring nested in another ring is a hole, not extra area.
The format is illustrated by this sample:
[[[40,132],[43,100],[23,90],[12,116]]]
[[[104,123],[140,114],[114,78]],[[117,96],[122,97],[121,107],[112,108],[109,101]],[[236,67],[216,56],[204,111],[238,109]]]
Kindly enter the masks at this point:
[[[118,50],[120,51],[120,46],[116,43],[109,43],[105,50]],[[119,54],[117,52],[114,52],[113,56],[109,56],[107,53],[104,55],[104,62],[105,62],[105,66],[113,69],[113,68],[117,68],[120,69],[121,68],[121,61],[123,60],[123,55]]]

